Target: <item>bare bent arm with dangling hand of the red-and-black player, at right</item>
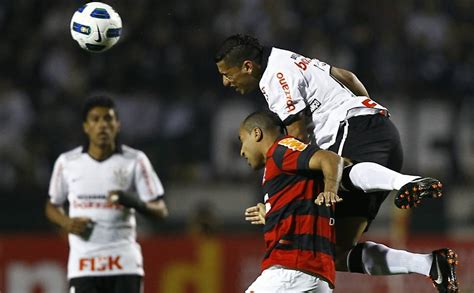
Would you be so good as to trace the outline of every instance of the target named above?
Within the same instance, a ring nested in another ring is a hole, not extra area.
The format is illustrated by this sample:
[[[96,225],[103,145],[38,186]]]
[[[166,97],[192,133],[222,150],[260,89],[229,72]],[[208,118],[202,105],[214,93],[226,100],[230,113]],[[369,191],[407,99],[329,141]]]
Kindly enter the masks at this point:
[[[314,201],[316,204],[325,203],[326,206],[330,206],[342,201],[337,191],[341,182],[343,164],[343,159],[334,152],[318,150],[313,154],[309,161],[309,168],[322,171],[324,176],[324,191],[317,196]]]

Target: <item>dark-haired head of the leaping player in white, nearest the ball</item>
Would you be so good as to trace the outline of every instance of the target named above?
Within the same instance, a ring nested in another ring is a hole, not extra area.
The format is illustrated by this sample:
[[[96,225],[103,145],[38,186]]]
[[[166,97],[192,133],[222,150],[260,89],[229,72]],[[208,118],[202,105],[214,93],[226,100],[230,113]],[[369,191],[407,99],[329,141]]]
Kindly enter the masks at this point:
[[[224,86],[241,94],[258,87],[261,78],[263,46],[247,35],[228,37],[217,50],[215,62]]]

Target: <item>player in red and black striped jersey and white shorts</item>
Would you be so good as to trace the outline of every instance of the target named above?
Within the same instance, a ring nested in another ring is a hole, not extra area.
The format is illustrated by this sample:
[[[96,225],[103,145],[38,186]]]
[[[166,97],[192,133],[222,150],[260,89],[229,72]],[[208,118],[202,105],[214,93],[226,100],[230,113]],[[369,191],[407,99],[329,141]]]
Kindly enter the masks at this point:
[[[340,201],[342,158],[283,135],[278,117],[269,112],[249,115],[239,139],[250,167],[265,167],[267,206],[262,274],[246,292],[331,292],[336,274],[331,205]]]

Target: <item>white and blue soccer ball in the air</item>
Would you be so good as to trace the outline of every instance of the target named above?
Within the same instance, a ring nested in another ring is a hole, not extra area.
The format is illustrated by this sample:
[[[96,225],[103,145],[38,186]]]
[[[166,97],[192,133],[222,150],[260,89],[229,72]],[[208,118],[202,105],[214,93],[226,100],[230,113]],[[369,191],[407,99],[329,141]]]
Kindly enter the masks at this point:
[[[122,19],[115,10],[101,2],[80,7],[71,19],[71,35],[84,50],[100,53],[120,39]]]

